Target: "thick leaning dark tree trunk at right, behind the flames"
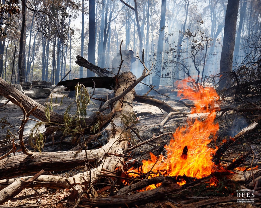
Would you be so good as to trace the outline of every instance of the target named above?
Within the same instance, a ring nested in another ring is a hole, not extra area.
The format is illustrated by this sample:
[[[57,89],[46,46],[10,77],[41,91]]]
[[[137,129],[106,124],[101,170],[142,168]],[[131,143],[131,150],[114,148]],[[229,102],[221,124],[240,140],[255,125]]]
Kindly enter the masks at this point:
[[[223,47],[220,58],[220,81],[219,88],[228,88],[231,80],[233,53],[235,47],[236,20],[238,17],[239,0],[228,0]]]

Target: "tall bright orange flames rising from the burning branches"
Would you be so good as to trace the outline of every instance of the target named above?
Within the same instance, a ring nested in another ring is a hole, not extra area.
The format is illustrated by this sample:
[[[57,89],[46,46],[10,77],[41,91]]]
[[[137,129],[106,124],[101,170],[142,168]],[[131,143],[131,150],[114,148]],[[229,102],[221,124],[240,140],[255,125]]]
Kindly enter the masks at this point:
[[[169,145],[165,146],[167,158],[164,158],[163,155],[157,158],[151,153],[151,159],[142,161],[142,167],[128,172],[147,173],[151,171],[151,177],[183,176],[185,174],[188,177],[199,179],[209,176],[214,171],[215,165],[212,157],[216,149],[207,145],[211,140],[216,139],[216,132],[219,129],[218,123],[214,122],[219,96],[211,87],[204,88],[195,82],[191,87],[188,86],[190,82],[191,80],[185,80],[181,83],[183,88],[179,90],[178,95],[182,97],[181,99],[193,100],[195,107],[192,108],[191,113],[203,113],[201,118],[188,118],[186,126],[176,129],[173,139],[170,140]],[[138,175],[129,173],[129,176]],[[185,184],[185,181],[179,184]],[[155,185],[148,186],[146,190],[153,188]]]

